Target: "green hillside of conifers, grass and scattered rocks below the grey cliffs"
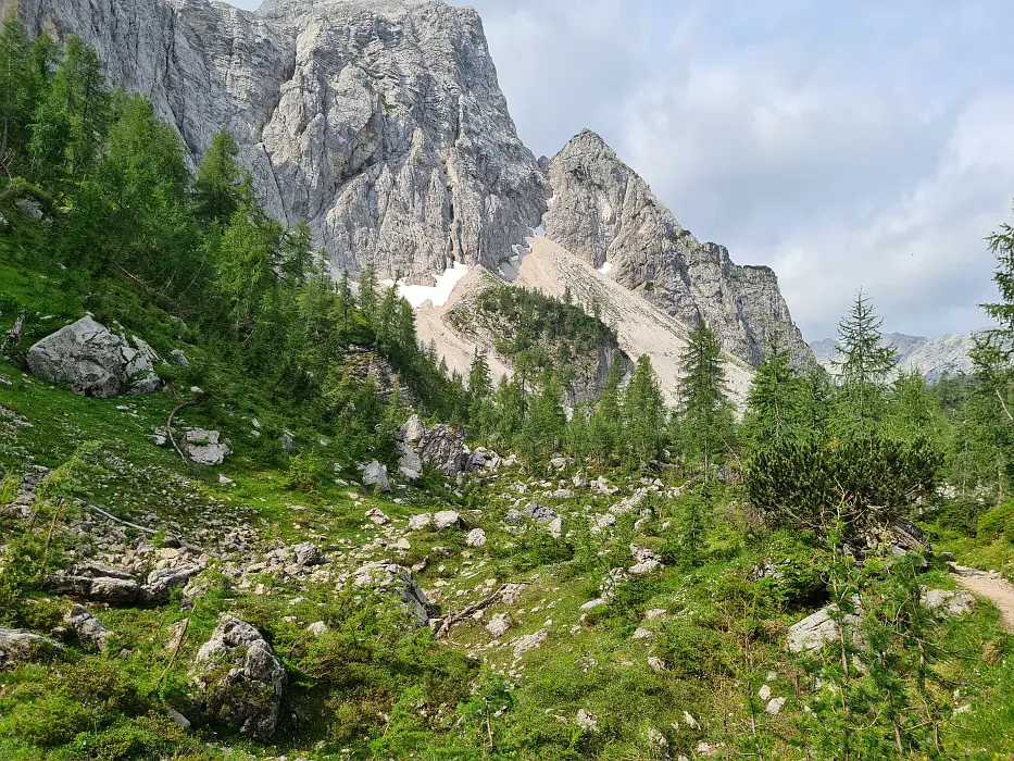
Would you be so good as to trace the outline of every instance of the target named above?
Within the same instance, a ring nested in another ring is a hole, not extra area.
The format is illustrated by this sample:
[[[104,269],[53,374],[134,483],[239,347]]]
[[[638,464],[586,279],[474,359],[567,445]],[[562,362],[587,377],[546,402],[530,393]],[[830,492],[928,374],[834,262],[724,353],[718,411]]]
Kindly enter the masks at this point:
[[[565,404],[593,309],[489,291],[528,371],[448,377],[227,134],[191,174],[79,40],[0,62],[0,759],[1014,756],[960,589],[1014,581],[1010,227],[973,375],[887,383],[860,294],[837,380],[773,345],[742,419],[704,323],[676,409],[646,358]],[[147,392],[53,348],[86,313]]]

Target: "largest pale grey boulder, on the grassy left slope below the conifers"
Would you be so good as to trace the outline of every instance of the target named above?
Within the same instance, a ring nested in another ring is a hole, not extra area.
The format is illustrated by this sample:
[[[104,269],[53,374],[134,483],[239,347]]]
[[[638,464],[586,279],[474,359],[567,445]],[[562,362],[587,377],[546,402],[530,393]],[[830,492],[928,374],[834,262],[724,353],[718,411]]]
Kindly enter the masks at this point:
[[[161,386],[159,355],[137,336],[113,333],[90,316],[60,328],[28,349],[28,370],[86,397],[151,394]]]

